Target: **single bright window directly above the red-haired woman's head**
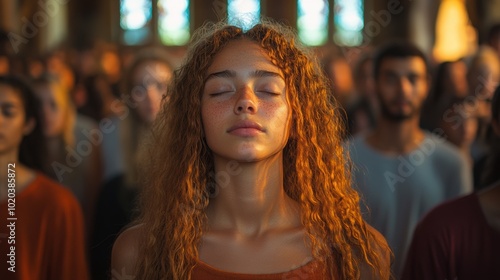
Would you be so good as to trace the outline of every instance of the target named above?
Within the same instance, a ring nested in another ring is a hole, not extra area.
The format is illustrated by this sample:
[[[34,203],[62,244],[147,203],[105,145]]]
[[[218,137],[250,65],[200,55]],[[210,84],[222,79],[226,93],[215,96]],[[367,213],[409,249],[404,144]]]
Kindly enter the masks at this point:
[[[260,0],[228,0],[229,24],[243,30],[252,28],[260,19]]]

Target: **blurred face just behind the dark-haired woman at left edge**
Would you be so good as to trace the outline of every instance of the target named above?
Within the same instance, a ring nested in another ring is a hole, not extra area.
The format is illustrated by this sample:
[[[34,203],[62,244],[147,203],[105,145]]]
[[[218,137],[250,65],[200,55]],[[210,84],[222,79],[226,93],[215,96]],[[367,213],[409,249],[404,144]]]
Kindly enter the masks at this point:
[[[57,93],[55,86],[50,84],[38,84],[35,86],[35,93],[40,99],[45,123],[43,132],[47,137],[58,137],[64,131],[65,117],[67,115],[68,104],[61,96],[64,92]]]

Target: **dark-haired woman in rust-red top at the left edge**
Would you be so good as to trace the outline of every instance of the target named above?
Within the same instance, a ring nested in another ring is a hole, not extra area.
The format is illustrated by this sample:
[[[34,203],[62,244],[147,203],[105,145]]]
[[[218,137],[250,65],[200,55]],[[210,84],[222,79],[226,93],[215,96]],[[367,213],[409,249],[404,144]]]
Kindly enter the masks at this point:
[[[40,170],[43,136],[34,93],[0,76],[0,278],[88,279],[82,212]]]

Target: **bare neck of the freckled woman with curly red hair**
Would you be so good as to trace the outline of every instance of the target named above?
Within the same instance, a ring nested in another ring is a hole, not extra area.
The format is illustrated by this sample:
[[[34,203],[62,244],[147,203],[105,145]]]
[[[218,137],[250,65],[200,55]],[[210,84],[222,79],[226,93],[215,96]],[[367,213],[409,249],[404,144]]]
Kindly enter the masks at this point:
[[[207,216],[210,229],[247,236],[300,225],[298,204],[284,191],[282,154],[257,163],[216,160],[217,188]]]

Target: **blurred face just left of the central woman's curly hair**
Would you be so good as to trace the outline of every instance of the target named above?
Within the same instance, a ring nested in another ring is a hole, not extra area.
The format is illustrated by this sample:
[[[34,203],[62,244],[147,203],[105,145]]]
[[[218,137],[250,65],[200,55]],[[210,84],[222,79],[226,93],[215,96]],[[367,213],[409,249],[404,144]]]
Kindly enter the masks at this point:
[[[145,61],[135,69],[131,96],[142,122],[151,123],[156,118],[171,77],[172,69],[161,61]]]

